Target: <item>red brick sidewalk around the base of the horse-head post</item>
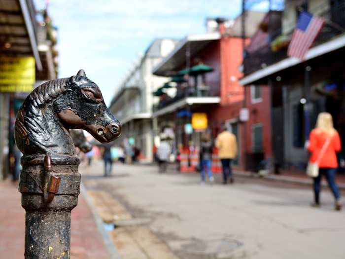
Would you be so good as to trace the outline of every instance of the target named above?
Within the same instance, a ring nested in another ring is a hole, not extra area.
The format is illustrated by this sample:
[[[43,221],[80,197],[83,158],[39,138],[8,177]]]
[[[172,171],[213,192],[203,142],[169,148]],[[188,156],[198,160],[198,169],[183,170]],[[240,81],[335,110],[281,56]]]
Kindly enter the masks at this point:
[[[24,258],[25,210],[18,183],[0,182],[0,257]],[[71,214],[71,258],[109,259],[95,219],[82,193]]]

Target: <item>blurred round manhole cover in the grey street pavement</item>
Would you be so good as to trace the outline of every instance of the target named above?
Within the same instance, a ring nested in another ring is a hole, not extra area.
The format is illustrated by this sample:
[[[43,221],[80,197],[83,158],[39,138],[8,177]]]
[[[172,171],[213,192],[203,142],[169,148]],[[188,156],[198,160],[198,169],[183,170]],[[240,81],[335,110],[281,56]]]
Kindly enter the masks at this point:
[[[235,239],[193,240],[182,246],[183,250],[190,254],[212,255],[231,252],[243,244]]]

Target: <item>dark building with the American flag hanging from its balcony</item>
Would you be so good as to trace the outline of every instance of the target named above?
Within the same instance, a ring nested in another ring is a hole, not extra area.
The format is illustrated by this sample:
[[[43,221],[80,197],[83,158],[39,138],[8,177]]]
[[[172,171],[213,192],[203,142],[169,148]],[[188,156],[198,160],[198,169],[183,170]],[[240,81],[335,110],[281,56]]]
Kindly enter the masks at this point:
[[[303,61],[287,56],[302,11],[325,22]],[[263,85],[263,89],[271,91],[272,150],[276,167],[304,170],[309,157],[305,142],[319,112],[332,114],[344,150],[345,1],[286,0],[279,24],[279,28],[269,32],[269,37],[258,40],[260,49],[247,51],[241,83]],[[340,154],[340,159],[343,158]]]

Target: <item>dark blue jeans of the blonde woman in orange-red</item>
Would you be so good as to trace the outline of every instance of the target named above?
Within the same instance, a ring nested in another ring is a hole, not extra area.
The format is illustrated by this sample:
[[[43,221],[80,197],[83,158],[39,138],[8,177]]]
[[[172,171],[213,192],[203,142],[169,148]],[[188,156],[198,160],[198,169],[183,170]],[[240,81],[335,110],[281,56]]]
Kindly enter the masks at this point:
[[[315,198],[316,204],[319,204],[319,202],[320,202],[320,190],[321,190],[321,177],[322,177],[322,175],[326,176],[328,185],[333,192],[334,198],[336,200],[339,200],[339,198],[340,198],[339,189],[338,189],[338,186],[336,185],[336,181],[335,181],[336,173],[337,173],[336,168],[320,168],[319,169],[319,175],[314,178],[314,198]]]

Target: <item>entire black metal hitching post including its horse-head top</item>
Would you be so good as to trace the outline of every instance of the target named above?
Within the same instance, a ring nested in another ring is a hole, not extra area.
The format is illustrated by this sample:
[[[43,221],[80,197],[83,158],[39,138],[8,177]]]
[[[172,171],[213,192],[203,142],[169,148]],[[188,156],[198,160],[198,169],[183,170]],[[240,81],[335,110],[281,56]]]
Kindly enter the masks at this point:
[[[98,86],[83,70],[48,81],[24,101],[15,123],[23,152],[19,191],[25,215],[25,259],[70,258],[70,214],[78,203],[80,160],[69,129],[108,143],[121,133]]]

